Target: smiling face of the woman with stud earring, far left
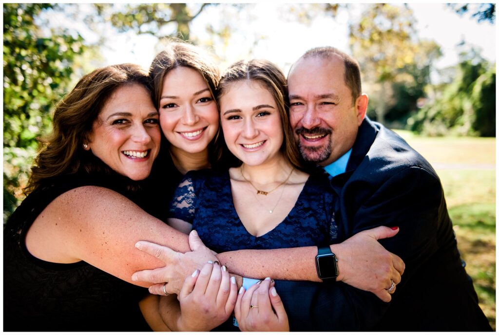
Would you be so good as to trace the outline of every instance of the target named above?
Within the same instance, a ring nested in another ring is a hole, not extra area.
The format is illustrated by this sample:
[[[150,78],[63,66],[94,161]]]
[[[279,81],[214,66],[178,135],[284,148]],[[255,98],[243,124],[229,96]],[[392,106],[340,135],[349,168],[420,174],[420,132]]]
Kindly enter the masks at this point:
[[[139,84],[118,87],[92,126],[91,150],[114,171],[133,180],[146,178],[158,156],[161,133],[151,95]]]

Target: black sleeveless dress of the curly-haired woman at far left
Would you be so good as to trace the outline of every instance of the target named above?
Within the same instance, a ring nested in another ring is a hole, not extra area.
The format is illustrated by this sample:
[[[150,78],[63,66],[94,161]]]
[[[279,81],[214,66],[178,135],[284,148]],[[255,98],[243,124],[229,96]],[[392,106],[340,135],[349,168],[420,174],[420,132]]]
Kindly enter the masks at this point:
[[[84,185],[113,189],[157,217],[158,204],[169,198],[165,187],[151,179],[131,184],[118,174],[87,173],[46,179],[24,199],[3,231],[4,331],[151,330],[138,306],[147,289],[83,261],[46,262],[26,249],[26,233],[43,209],[62,193]]]

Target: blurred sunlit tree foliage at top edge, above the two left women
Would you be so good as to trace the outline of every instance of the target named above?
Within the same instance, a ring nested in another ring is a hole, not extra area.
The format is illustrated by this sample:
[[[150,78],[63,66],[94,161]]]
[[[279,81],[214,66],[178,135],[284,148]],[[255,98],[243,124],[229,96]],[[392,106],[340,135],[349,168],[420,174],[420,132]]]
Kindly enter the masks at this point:
[[[120,31],[133,30],[138,34],[152,34],[158,38],[190,39],[190,24],[209,3],[142,3],[96,4],[99,12],[108,17]]]

